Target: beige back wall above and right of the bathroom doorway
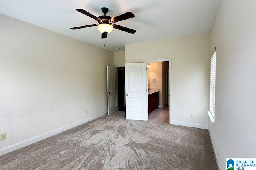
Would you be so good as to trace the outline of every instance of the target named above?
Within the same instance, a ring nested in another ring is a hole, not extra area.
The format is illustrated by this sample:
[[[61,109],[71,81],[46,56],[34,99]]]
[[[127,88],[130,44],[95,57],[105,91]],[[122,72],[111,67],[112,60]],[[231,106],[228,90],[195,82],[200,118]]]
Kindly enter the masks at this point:
[[[125,48],[126,63],[171,58],[172,121],[208,125],[209,33],[126,45]],[[194,118],[190,118],[190,113]]]

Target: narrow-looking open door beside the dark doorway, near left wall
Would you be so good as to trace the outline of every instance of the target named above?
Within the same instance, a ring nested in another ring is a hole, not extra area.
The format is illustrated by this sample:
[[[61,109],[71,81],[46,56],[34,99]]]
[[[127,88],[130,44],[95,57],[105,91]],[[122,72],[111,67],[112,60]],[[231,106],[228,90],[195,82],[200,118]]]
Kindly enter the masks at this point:
[[[107,66],[108,115],[118,111],[117,67]]]

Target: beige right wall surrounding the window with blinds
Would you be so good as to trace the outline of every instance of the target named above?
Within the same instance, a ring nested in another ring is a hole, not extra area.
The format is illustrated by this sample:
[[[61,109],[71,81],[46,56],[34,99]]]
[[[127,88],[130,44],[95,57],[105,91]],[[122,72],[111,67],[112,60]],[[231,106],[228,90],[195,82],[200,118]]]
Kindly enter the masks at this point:
[[[220,169],[226,158],[256,158],[256,1],[222,0],[211,31],[216,46],[215,123]]]

